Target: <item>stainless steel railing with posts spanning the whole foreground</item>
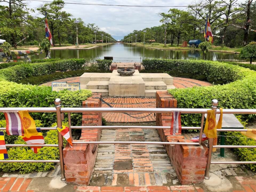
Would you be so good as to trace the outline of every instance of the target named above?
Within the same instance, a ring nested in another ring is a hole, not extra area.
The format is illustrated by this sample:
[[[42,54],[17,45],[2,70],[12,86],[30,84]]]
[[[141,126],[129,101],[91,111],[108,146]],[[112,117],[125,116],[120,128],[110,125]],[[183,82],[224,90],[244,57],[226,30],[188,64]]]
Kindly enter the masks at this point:
[[[202,141],[203,124],[204,124],[204,114],[210,109],[187,109],[187,108],[101,108],[101,107],[70,107],[62,108],[61,100],[55,99],[54,101],[56,107],[5,107],[0,108],[0,113],[5,111],[19,111],[28,110],[34,113],[56,113],[57,127],[62,127],[62,121],[64,119],[64,113],[68,114],[68,122],[70,128],[70,135],[72,135],[72,129],[130,129],[130,128],[141,128],[141,129],[169,129],[169,126],[72,126],[71,125],[71,113],[129,113],[129,112],[142,112],[142,113],[171,113],[173,110],[181,111],[181,113],[196,113],[201,114],[201,125],[200,127],[186,127],[183,126],[183,130],[197,129],[199,132],[199,142],[138,142],[138,141],[80,141],[73,142],[74,144],[161,144],[161,145],[195,145],[200,146]],[[216,99],[212,102],[211,109],[215,110],[215,114],[220,113],[217,109],[218,101]],[[223,114],[256,114],[256,109],[223,109]],[[41,127],[41,130],[55,130],[55,127]],[[0,128],[0,130],[5,130],[5,128]],[[217,131],[247,131],[247,129],[217,129]],[[62,135],[58,133],[58,145],[19,145],[19,144],[7,144],[6,147],[28,147],[28,146],[42,146],[42,147],[58,147],[60,159],[59,160],[0,160],[0,162],[59,162],[61,165],[61,180],[65,180],[64,173],[64,162],[63,162],[63,142]],[[205,171],[205,179],[209,179],[210,164],[256,164],[256,161],[250,162],[214,162],[211,161],[211,153],[213,147],[216,148],[255,148],[256,146],[230,146],[230,145],[213,145],[213,139],[209,138],[208,141],[208,160]]]

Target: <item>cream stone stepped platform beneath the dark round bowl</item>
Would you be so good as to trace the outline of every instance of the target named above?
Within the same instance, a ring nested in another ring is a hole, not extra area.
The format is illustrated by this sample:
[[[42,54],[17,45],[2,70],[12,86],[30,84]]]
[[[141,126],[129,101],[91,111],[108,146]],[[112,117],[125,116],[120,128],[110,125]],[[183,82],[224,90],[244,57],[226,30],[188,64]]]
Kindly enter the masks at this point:
[[[102,96],[142,96],[155,97],[156,91],[174,89],[173,77],[167,73],[139,73],[122,77],[112,73],[84,73],[80,77],[81,89],[90,89]]]

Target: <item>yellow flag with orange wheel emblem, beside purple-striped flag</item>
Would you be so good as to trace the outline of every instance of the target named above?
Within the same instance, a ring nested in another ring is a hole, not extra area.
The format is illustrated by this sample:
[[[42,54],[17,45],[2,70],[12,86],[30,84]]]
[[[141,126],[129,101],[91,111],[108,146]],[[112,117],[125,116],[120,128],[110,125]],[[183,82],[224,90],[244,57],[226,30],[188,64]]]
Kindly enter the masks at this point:
[[[29,112],[26,111],[19,111],[22,119],[22,125],[24,128],[24,137],[30,138],[31,136],[37,135],[37,129],[35,127],[34,119],[29,115]]]

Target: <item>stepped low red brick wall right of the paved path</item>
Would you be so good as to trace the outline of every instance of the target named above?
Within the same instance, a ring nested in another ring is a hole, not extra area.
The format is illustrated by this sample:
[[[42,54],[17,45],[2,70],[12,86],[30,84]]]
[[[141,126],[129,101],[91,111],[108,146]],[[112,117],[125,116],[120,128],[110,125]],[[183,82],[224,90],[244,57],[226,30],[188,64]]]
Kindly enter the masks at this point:
[[[157,108],[177,108],[177,100],[167,91],[157,91]],[[157,126],[171,126],[172,116],[169,113],[156,115]],[[191,142],[182,135],[171,135],[170,129],[158,129],[163,142]],[[200,183],[204,179],[208,148],[201,146],[166,145],[165,146],[177,177],[182,185]]]

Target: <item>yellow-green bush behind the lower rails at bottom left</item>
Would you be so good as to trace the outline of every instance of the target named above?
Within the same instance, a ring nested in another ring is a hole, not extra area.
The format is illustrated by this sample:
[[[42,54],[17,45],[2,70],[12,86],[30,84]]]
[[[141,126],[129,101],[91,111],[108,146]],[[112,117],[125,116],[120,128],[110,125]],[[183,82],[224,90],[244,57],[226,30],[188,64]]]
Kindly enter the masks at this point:
[[[63,139],[65,146],[66,140]],[[57,130],[50,130],[45,137],[46,144],[58,144]],[[15,144],[26,144],[21,137]],[[42,147],[35,154],[29,147],[12,147],[8,149],[10,160],[57,160],[59,159],[59,149],[57,147]],[[0,170],[4,172],[19,171],[21,174],[49,171],[55,168],[54,163],[0,163]]]

